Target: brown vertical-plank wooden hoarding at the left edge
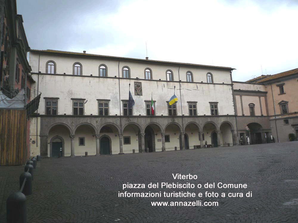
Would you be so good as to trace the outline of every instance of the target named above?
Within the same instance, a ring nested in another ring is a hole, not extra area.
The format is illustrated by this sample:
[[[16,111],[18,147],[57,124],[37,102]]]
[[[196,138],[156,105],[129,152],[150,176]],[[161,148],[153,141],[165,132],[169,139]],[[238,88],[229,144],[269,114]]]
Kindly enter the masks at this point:
[[[24,165],[26,110],[0,109],[0,165]]]

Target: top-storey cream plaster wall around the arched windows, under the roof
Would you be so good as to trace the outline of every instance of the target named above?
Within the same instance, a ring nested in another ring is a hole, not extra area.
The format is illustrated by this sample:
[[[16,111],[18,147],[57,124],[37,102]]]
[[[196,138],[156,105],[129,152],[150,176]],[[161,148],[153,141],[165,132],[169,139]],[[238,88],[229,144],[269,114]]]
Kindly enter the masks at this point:
[[[85,58],[83,56],[67,56],[67,55],[51,55],[44,53],[36,53],[30,52],[30,64],[32,68],[32,72],[46,72],[46,63],[49,60],[53,60],[56,63],[56,73],[58,74],[73,74],[73,65],[75,62],[79,62],[82,64],[82,75],[90,76],[99,76],[99,66],[104,64],[107,67],[107,75],[109,77],[114,77],[118,75],[122,77],[122,68],[124,66],[129,67],[131,78],[145,78],[145,69],[150,68],[152,70],[151,76],[154,80],[167,80],[166,71],[172,70],[174,81],[186,81],[186,73],[187,71],[191,71],[193,73],[193,81],[194,82],[207,82],[207,73],[212,73],[213,82],[214,83],[226,83],[231,84],[231,77],[229,70],[219,70],[212,67],[204,68],[204,67],[193,67],[183,65],[173,65],[173,64],[159,64],[158,62],[147,62],[144,61],[130,61],[130,60],[117,60],[117,59],[107,59],[100,57],[91,57],[86,55]],[[39,64],[39,66],[38,66]],[[118,69],[119,67],[119,69]],[[179,79],[180,76],[180,79]]]

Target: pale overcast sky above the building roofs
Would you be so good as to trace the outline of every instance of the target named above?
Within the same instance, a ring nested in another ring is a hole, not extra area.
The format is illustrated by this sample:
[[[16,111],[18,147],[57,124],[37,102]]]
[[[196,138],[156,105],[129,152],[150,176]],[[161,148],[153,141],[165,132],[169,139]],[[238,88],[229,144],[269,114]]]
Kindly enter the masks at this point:
[[[298,0],[17,0],[31,49],[233,67],[298,67]]]

